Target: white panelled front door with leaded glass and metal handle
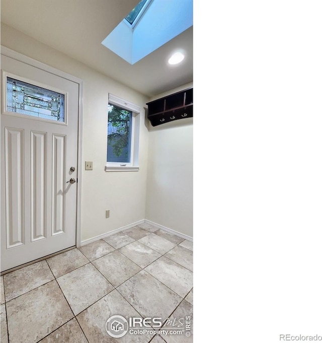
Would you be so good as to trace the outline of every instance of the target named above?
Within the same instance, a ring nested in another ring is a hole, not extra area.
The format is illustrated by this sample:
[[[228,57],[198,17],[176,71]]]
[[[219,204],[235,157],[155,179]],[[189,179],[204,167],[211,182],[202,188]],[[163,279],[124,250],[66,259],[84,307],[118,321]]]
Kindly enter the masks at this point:
[[[76,244],[79,84],[3,54],[1,70],[5,271]]]

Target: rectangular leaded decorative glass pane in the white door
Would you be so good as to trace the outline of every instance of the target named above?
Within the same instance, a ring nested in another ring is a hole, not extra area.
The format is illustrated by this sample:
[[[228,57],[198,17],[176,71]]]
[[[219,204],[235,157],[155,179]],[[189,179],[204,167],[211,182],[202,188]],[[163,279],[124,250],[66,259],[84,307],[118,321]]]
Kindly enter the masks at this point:
[[[7,77],[7,110],[64,122],[65,95]]]

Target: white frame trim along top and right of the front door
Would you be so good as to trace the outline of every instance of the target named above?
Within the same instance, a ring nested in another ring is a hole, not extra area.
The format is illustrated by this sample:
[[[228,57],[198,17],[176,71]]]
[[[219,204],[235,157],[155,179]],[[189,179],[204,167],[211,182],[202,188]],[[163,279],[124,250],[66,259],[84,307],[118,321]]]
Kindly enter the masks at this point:
[[[50,65],[40,62],[36,59],[28,57],[20,52],[9,49],[1,45],[2,55],[16,59],[17,61],[36,67],[47,73],[59,76],[66,80],[78,84],[78,142],[77,142],[77,191],[76,191],[76,241],[75,245],[78,248],[81,246],[81,189],[82,189],[82,123],[83,123],[83,80],[73,75],[62,72]]]

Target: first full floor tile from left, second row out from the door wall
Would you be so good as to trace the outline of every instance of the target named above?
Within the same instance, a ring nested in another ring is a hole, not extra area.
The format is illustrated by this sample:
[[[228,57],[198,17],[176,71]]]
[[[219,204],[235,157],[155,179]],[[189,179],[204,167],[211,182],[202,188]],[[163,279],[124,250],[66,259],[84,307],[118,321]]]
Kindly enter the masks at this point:
[[[73,317],[55,280],[6,305],[10,343],[37,342]]]

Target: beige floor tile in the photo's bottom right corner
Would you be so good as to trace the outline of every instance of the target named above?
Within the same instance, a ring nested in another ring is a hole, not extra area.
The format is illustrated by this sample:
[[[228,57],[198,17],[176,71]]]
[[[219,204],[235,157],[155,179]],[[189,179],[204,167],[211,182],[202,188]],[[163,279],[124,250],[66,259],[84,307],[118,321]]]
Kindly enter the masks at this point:
[[[188,329],[188,319],[190,318],[190,329]],[[192,343],[193,342],[193,307],[187,301],[183,300],[180,305],[176,308],[174,313],[169,318],[172,322],[174,319],[178,322],[180,319],[184,323],[182,334],[167,334],[160,333],[167,343]],[[166,324],[163,326],[169,327]]]

